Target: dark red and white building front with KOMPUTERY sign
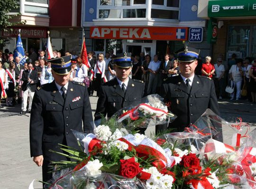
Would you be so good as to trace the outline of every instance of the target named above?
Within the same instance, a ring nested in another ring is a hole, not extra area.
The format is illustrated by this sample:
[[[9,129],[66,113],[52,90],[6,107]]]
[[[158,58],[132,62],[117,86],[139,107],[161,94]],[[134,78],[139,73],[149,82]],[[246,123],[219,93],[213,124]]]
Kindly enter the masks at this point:
[[[47,31],[50,31],[53,50],[80,52],[82,0],[18,0],[18,4],[19,9],[12,10],[10,14],[21,15],[12,21],[26,21],[26,24],[2,34],[10,38],[4,49],[14,51],[18,30],[21,29],[23,47],[27,52],[31,48],[36,52],[46,50]]]

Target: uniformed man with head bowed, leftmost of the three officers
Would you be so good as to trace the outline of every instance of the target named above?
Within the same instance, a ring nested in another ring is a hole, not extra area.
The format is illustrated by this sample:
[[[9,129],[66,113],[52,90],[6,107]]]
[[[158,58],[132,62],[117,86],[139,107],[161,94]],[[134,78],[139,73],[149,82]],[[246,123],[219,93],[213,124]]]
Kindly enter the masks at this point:
[[[33,161],[43,168],[43,181],[52,178],[50,161],[68,160],[49,150],[64,153],[58,144],[79,149],[71,129],[93,130],[91,104],[83,83],[69,81],[71,56],[48,60],[54,81],[35,92],[30,117],[30,153]]]

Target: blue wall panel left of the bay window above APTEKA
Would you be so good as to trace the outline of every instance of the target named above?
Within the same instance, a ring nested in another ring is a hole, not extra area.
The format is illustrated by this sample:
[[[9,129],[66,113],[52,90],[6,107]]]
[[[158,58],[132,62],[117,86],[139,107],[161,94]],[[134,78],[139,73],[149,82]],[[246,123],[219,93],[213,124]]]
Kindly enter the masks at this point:
[[[92,22],[93,19],[97,18],[97,0],[84,0],[84,13],[83,13],[83,21]],[[93,9],[93,13],[90,13],[90,9]]]

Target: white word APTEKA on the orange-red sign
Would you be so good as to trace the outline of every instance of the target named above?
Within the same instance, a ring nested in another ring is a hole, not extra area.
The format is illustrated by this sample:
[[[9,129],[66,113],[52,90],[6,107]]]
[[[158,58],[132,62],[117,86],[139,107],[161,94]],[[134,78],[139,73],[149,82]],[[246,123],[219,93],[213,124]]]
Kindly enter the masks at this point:
[[[141,31],[142,30],[142,31]],[[140,34],[141,31],[141,34]],[[118,36],[119,34],[119,36]],[[91,37],[109,37],[113,38],[147,38],[151,39],[151,35],[147,28],[108,28],[102,27],[101,30],[98,27],[93,28]]]

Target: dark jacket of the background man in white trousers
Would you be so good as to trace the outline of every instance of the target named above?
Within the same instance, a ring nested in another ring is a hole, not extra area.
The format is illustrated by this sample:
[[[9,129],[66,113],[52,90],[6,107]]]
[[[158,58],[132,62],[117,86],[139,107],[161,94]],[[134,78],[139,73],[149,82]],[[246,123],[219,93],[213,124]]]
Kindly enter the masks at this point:
[[[22,91],[26,91],[27,87],[30,86],[31,92],[35,92],[36,87],[37,87],[37,82],[38,82],[38,75],[37,75],[37,71],[36,70],[31,70],[31,74],[29,76],[30,79],[33,80],[33,84],[28,83],[28,75],[29,75],[29,71],[24,70],[22,73],[22,77],[21,77],[21,81],[23,81],[23,84],[21,86]]]

